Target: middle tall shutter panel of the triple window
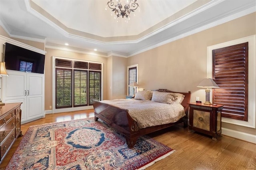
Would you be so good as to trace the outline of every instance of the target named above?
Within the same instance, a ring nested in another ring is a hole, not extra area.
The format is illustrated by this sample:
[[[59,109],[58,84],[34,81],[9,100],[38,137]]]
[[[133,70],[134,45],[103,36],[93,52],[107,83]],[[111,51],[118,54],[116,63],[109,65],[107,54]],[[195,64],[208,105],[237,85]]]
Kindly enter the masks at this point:
[[[74,69],[74,107],[87,106],[87,70]]]

